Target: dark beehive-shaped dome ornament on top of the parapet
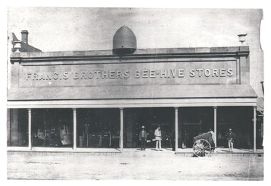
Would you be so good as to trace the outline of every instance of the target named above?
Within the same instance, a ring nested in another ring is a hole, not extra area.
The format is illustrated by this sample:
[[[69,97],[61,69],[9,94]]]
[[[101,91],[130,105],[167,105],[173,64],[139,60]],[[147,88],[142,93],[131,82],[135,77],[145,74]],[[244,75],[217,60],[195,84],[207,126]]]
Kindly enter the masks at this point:
[[[113,52],[119,55],[136,51],[136,35],[127,26],[121,26],[113,36]]]

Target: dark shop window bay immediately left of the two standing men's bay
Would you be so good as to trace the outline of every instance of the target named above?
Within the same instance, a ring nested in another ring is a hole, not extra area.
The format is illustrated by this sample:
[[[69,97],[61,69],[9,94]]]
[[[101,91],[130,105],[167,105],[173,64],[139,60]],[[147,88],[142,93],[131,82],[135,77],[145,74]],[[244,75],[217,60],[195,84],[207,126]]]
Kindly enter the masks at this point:
[[[78,148],[119,148],[120,110],[78,109]]]

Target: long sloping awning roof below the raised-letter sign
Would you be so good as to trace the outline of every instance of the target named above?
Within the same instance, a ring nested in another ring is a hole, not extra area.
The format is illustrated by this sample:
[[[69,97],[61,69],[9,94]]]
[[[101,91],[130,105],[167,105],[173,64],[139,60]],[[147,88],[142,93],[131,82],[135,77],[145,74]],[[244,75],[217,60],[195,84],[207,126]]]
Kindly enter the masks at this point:
[[[8,100],[96,100],[155,98],[257,98],[250,85],[93,86],[11,88]]]

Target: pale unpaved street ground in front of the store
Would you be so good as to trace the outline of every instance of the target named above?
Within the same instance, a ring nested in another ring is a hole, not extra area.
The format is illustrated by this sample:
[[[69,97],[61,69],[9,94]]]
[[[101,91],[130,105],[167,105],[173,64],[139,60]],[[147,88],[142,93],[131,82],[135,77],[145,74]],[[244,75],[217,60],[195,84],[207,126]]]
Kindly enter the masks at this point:
[[[185,157],[163,149],[123,153],[8,152],[9,180],[263,180],[264,157]]]

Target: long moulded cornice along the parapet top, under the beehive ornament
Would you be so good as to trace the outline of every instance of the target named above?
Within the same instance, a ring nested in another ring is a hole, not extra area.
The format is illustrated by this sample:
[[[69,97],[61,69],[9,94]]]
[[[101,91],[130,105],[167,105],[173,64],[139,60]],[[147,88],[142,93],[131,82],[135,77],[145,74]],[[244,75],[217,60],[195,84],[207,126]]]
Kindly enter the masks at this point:
[[[58,51],[12,53],[11,63],[58,62],[58,61],[131,61],[148,59],[174,58],[239,58],[249,54],[248,46],[211,47],[211,48],[147,48],[138,49],[135,53],[118,56],[112,51]]]

